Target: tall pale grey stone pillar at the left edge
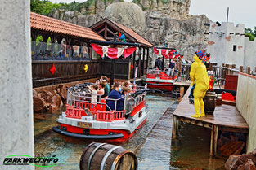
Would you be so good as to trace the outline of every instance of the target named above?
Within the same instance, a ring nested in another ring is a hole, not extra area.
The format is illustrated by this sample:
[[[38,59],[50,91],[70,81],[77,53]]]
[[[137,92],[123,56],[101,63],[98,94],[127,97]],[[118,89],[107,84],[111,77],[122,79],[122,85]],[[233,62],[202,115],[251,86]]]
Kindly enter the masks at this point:
[[[0,5],[0,161],[9,155],[34,156],[29,1]],[[11,11],[11,13],[10,13]],[[34,169],[4,166],[2,169]]]

